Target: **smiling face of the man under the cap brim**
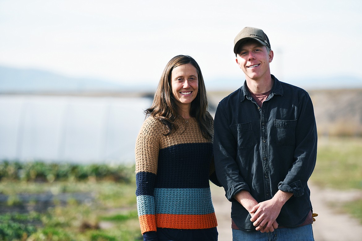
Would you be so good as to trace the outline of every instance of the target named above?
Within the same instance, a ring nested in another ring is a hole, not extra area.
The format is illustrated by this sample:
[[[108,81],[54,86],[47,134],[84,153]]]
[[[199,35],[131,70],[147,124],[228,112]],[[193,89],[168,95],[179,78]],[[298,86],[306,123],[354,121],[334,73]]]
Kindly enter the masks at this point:
[[[236,63],[246,78],[257,81],[264,77],[270,78],[269,63],[273,56],[273,51],[268,54],[265,46],[256,41],[248,41],[239,47]]]

